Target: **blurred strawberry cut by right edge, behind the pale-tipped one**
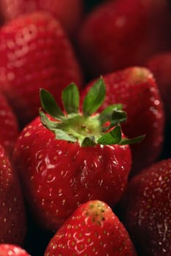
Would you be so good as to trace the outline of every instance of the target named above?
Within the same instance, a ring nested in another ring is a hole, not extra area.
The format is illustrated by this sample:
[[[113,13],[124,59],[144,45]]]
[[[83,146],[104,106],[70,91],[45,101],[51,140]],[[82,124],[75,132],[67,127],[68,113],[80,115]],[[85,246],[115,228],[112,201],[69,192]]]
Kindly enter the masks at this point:
[[[146,67],[153,72],[156,78],[161,98],[164,102],[164,110],[167,121],[171,123],[171,51],[158,53],[151,56],[147,62]]]

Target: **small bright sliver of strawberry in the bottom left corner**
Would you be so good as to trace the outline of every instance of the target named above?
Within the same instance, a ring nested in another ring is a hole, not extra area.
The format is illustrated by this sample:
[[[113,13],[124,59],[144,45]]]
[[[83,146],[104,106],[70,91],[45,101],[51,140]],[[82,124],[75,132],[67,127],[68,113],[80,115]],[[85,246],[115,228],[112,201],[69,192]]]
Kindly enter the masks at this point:
[[[29,256],[20,246],[15,244],[0,244],[1,256]]]

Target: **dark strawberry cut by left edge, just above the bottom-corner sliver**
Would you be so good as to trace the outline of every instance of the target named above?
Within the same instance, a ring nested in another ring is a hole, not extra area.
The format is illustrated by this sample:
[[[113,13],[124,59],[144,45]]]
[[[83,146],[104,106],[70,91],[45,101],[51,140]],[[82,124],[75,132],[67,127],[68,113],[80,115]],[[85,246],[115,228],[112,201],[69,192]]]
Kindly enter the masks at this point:
[[[0,145],[0,243],[22,244],[26,217],[18,177]]]

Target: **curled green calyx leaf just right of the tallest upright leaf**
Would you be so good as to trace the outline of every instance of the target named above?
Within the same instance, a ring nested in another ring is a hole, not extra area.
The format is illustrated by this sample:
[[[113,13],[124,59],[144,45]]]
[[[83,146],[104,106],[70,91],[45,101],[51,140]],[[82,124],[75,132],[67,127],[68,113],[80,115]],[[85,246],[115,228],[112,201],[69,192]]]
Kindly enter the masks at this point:
[[[102,125],[105,124],[107,121],[111,121],[113,116],[113,110],[122,110],[122,105],[114,104],[108,106],[107,108],[104,108],[104,110],[102,110],[99,115],[99,121]]]

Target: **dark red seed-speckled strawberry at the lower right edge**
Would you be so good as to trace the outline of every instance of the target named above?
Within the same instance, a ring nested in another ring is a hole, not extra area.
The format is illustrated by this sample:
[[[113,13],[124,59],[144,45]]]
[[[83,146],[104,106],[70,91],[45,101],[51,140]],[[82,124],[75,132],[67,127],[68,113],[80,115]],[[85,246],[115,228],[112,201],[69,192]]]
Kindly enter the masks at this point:
[[[121,219],[140,256],[171,255],[171,159],[134,176],[121,200]]]

